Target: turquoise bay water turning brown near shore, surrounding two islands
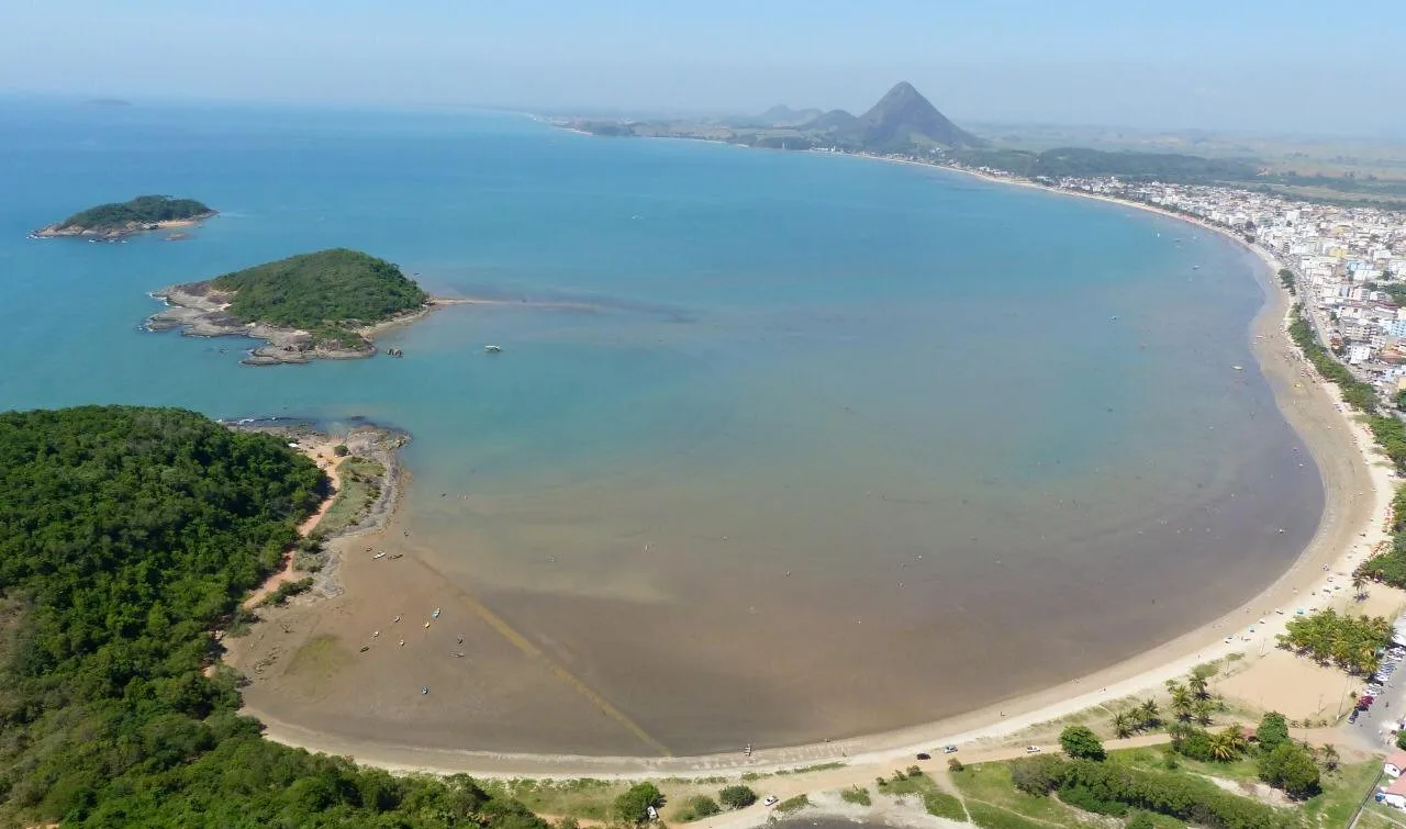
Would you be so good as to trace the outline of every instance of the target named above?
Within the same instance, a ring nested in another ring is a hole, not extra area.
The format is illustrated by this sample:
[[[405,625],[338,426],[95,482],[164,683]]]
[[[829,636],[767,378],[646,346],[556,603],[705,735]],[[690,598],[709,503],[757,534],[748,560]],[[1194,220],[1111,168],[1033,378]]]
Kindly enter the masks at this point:
[[[0,108],[0,407],[409,430],[437,566],[675,752],[1108,665],[1268,583],[1322,507],[1253,257],[1116,205],[510,115],[34,101]],[[222,215],[25,239],[138,192]],[[330,246],[509,302],[382,339],[404,360],[141,329],[148,291]],[[482,748],[614,748],[538,736]]]

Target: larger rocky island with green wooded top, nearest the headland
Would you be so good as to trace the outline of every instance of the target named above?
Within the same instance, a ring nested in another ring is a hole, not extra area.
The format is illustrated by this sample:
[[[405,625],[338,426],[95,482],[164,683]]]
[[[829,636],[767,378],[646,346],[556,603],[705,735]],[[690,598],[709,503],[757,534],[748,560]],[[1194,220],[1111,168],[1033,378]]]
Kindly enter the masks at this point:
[[[173,285],[152,296],[167,308],[146,322],[150,330],[266,340],[245,358],[249,365],[371,357],[377,330],[434,306],[396,266],[340,247]]]

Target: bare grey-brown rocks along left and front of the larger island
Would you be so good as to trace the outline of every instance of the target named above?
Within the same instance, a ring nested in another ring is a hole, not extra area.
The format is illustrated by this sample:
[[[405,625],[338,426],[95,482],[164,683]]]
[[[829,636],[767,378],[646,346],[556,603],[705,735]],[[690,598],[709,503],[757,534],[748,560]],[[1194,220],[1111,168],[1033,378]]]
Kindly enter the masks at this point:
[[[152,332],[180,330],[187,337],[250,337],[264,340],[245,357],[245,365],[299,364],[311,360],[359,360],[375,354],[375,346],[329,347],[315,341],[312,334],[260,322],[242,322],[229,313],[232,291],[219,291],[209,282],[172,285],[152,292],[166,302],[166,309],[146,320]]]

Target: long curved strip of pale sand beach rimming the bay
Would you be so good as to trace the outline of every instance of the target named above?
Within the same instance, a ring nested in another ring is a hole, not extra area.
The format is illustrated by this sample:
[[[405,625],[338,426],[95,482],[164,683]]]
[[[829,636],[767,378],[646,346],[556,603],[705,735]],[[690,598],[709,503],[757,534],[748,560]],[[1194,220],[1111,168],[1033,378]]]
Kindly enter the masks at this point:
[[[1019,184],[998,178],[994,181]],[[1159,212],[1223,233],[1244,244],[1218,228],[1147,205],[1101,197],[1087,198],[1099,198],[1128,209]],[[1286,617],[1277,615],[1275,608],[1292,613],[1298,606],[1312,606],[1313,601],[1305,599],[1309,593],[1320,589],[1333,573],[1350,573],[1375,544],[1386,538],[1385,524],[1389,517],[1395,474],[1385,458],[1375,452],[1365,429],[1340,410],[1336,388],[1322,384],[1312,375],[1310,367],[1289,341],[1285,325],[1289,301],[1274,280],[1274,271],[1279,264],[1265,252],[1251,250],[1265,264],[1258,277],[1267,301],[1249,334],[1254,337],[1256,357],[1281,412],[1303,438],[1319,466],[1326,496],[1324,511],[1306,549],[1270,587],[1234,611],[1157,648],[1078,680],[1005,700],[960,717],[863,738],[765,749],[749,757],[741,752],[690,757],[596,757],[447,750],[416,746],[412,735],[406,735],[404,742],[347,739],[329,729],[281,722],[260,711],[257,705],[250,705],[246,712],[262,719],[266,724],[266,736],[276,742],[350,756],[360,763],[401,771],[541,778],[704,777],[830,762],[844,762],[858,771],[866,764],[911,757],[914,752],[928,750],[935,745],[969,745],[1010,738],[1032,725],[1157,688],[1164,680],[1184,674],[1198,663],[1233,652],[1246,652],[1253,659],[1253,653],[1260,651],[1261,645],[1272,646],[1274,637],[1282,631]],[[357,555],[344,562],[349,594],[387,586],[378,576],[370,575],[373,570],[363,558]],[[434,587],[436,577],[443,579],[430,570],[418,572],[412,577],[419,579],[416,589],[426,594]],[[1247,629],[1251,625],[1256,625],[1256,632],[1249,635]],[[1226,642],[1227,637],[1232,637],[1230,642]],[[238,665],[238,659],[235,663]],[[609,710],[605,712],[610,715]]]

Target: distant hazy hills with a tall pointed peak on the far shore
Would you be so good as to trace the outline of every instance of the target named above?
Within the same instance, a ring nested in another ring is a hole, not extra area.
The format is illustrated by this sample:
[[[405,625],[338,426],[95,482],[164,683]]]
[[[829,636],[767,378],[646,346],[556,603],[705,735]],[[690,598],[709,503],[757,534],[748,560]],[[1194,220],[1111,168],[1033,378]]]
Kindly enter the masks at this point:
[[[911,83],[889,90],[863,115],[844,110],[793,110],[778,104],[761,115],[716,121],[574,121],[593,135],[702,138],[772,149],[841,148],[883,153],[979,149],[987,142],[948,121]]]

